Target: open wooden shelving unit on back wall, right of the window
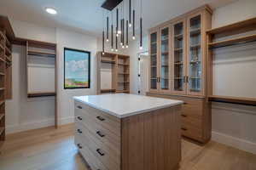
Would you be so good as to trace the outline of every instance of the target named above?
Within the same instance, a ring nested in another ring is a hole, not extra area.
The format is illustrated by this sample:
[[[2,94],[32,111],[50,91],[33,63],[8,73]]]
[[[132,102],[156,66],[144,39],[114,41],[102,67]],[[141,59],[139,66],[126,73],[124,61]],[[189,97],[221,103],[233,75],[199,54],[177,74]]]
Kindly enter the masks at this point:
[[[97,53],[97,94],[130,93],[130,57]]]

